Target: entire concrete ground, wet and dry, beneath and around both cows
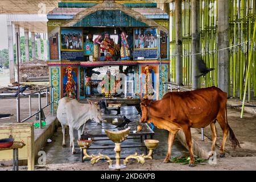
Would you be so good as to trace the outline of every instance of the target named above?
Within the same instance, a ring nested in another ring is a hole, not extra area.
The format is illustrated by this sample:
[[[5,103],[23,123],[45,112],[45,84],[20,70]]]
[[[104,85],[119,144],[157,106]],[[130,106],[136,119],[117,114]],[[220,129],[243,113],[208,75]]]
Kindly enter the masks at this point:
[[[28,104],[25,101],[27,98],[22,99],[22,117],[25,117],[28,114]],[[43,98],[45,99],[45,98]],[[45,101],[45,100],[44,100]],[[44,102],[43,101],[43,102]],[[16,110],[15,105],[16,100],[13,99],[0,99],[1,113],[13,113],[10,119],[0,119],[0,124],[4,122],[16,122]],[[34,108],[37,108],[38,100],[36,98],[32,99],[32,105]],[[36,109],[34,109],[35,111]],[[47,110],[45,111],[47,113]],[[188,168],[187,165],[183,166],[181,164],[162,164],[162,160],[167,154],[167,138],[168,133],[165,130],[155,129],[155,139],[160,140],[159,146],[155,150],[154,160],[148,160],[144,166],[141,164],[135,164],[131,162],[129,167],[126,169],[129,170],[256,170],[256,117],[253,114],[245,113],[244,118],[240,118],[240,110],[237,109],[228,109],[228,122],[230,127],[232,127],[234,133],[236,134],[237,139],[240,141],[242,148],[237,148],[233,150],[231,148],[231,142],[229,138],[226,142],[226,151],[230,154],[226,158],[217,158],[216,165],[204,165],[196,166],[196,168]],[[34,121],[35,118],[32,118],[31,121]],[[222,140],[222,131],[218,123],[216,124],[218,131],[217,145],[220,146]],[[36,130],[35,130],[36,131]],[[199,129],[200,131],[200,129]],[[212,134],[209,127],[205,128],[205,137],[212,139]],[[77,134],[77,133],[76,133]],[[62,133],[61,128],[57,130],[57,133],[53,135],[52,142],[47,143],[43,148],[46,151],[46,166],[38,166],[36,170],[108,170],[108,165],[105,162],[99,162],[93,167],[89,162],[81,163],[81,153],[79,147],[76,144],[77,154],[71,154],[70,147],[62,146]],[[77,136],[76,136],[77,137]],[[193,136],[192,136],[193,138]],[[69,144],[69,138],[66,138],[67,144]],[[138,140],[130,140],[129,142],[139,142]],[[110,142],[111,143],[111,142]],[[109,143],[99,143],[99,144],[109,144]],[[210,148],[209,148],[210,149]],[[122,156],[133,154],[136,150],[125,150],[125,154],[122,153]],[[98,152],[98,151],[97,151]],[[89,154],[97,154],[96,151],[89,150]],[[114,154],[113,150],[101,151],[102,154]],[[139,154],[144,152],[144,149],[137,149]],[[172,150],[172,157],[181,156],[187,154],[187,149],[185,149],[179,141],[175,140],[175,144]],[[37,164],[37,161],[35,161]],[[11,170],[11,167],[0,167],[0,170]],[[26,170],[26,167],[20,167],[21,170]]]

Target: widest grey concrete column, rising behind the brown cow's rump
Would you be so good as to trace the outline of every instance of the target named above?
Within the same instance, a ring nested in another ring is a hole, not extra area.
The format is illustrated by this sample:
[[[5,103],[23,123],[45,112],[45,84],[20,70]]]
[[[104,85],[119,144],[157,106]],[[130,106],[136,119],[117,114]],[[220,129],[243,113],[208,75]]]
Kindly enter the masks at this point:
[[[218,1],[218,49],[229,47],[229,2]],[[218,52],[218,87],[229,93],[229,50]]]

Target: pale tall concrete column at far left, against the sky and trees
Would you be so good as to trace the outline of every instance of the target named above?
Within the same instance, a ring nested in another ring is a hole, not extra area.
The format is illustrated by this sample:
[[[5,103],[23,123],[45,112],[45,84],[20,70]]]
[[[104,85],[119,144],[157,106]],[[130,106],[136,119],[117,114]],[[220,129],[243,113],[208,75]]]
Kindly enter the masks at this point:
[[[13,82],[15,82],[14,49],[13,49],[13,24],[11,23],[8,16],[7,16],[7,34],[8,34],[10,83],[13,83]]]

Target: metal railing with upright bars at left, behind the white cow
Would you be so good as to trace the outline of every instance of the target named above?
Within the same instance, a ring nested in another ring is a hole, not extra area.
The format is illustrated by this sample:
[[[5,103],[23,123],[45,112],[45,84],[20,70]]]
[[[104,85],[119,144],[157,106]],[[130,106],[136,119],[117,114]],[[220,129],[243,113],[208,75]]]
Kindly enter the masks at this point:
[[[44,90],[46,90],[46,92],[43,92]],[[43,106],[43,107],[42,107],[42,100],[41,100],[41,94],[42,93],[46,93],[46,105]],[[49,94],[49,93],[51,93],[51,94]],[[36,111],[35,113],[32,113],[32,111],[31,111],[31,96],[35,95],[35,94],[38,94],[38,111]],[[46,88],[39,89],[36,92],[32,92],[32,93],[29,93],[29,94],[26,94],[26,95],[19,95],[19,98],[27,97],[27,96],[28,96],[29,116],[27,118],[21,120],[21,121],[19,121],[19,117],[18,117],[18,115],[19,115],[19,101],[18,101],[18,97],[16,98],[17,122],[18,123],[23,123],[23,122],[27,121],[28,119],[34,117],[34,115],[39,113],[39,123],[40,123],[40,128],[42,128],[41,113],[42,113],[42,110],[44,108],[53,104],[53,88],[52,88],[52,86],[47,86]],[[49,99],[49,96],[51,96],[51,100]],[[52,113],[52,115],[54,115],[54,107],[52,107],[51,113]]]

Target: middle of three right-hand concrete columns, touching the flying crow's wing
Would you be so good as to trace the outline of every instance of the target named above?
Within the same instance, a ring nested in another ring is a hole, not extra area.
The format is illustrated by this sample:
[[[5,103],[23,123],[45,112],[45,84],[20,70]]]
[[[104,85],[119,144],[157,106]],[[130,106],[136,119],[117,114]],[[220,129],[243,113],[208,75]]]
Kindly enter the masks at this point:
[[[200,1],[192,0],[192,90],[200,88],[200,78],[197,69],[197,62],[200,55],[193,55],[200,53]]]

